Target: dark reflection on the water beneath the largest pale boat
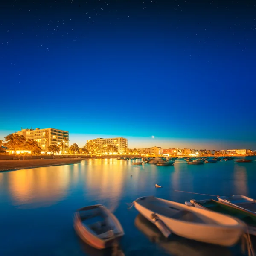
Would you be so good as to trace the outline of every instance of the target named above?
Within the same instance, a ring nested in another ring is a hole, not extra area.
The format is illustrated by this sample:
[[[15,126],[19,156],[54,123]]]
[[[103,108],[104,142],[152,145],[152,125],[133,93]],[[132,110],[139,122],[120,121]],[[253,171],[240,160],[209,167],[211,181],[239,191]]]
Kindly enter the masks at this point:
[[[216,256],[225,255],[231,256],[232,253],[229,248],[198,243],[197,241],[185,240],[181,237],[172,237],[172,239],[165,239],[163,234],[157,227],[138,214],[134,220],[134,226],[143,233],[152,243],[156,243],[166,253],[175,256]]]

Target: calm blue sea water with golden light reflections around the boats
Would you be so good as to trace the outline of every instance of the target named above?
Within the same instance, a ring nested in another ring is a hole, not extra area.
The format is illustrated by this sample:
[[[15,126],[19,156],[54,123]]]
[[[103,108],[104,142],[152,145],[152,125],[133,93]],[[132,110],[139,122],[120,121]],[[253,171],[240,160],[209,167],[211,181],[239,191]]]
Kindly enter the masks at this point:
[[[180,203],[209,198],[174,190],[256,198],[253,159],[252,163],[231,160],[195,166],[181,159],[174,166],[90,159],[0,173],[0,255],[110,255],[109,250],[95,250],[82,243],[73,229],[75,210],[91,204],[104,204],[119,219],[125,231],[120,246],[126,256],[241,255],[239,245],[227,249],[176,236],[164,241],[154,225],[134,207],[128,209],[128,204],[145,195]],[[164,187],[156,189],[155,183]]]

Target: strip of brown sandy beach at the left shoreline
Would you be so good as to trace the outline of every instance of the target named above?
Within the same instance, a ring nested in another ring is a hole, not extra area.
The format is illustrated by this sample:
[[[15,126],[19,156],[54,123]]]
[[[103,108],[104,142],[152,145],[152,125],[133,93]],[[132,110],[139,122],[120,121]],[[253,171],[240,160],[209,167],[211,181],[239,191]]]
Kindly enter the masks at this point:
[[[0,160],[0,172],[33,167],[55,166],[80,163],[83,159],[29,159],[29,160]]]

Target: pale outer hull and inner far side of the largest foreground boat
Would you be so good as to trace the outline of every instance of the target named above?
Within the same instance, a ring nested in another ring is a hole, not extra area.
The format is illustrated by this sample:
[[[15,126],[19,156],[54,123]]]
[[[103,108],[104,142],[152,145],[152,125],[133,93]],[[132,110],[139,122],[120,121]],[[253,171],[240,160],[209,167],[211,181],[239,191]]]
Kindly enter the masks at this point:
[[[171,202],[172,205],[175,204],[175,206],[180,207],[180,209],[188,210],[190,212],[203,212],[203,214],[206,215],[207,217],[209,217],[209,215],[212,215],[214,218],[222,218],[222,216],[224,216],[224,218],[227,218],[227,216],[215,212],[208,213],[207,211],[206,214],[205,210],[196,209],[194,207],[188,207],[186,205],[175,203],[172,201],[167,202]],[[234,225],[201,224],[166,217],[157,212],[153,212],[148,208],[143,207],[137,201],[134,202],[134,206],[140,212],[140,214],[142,214],[145,218],[148,219],[148,221],[154,223],[154,220],[152,220],[151,215],[155,213],[158,216],[158,218],[162,220],[163,223],[170,229],[172,233],[175,233],[176,235],[185,237],[187,239],[201,241],[209,244],[218,244],[222,246],[233,246],[238,242],[242,233],[244,233],[244,225],[240,223],[240,221],[234,221],[237,223]],[[228,218],[233,219],[230,217]]]

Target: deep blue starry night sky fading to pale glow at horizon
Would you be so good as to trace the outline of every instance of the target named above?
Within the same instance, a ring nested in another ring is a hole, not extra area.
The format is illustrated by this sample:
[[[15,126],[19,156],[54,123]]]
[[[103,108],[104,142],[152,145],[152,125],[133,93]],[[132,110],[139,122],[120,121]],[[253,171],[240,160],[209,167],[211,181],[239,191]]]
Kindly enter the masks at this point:
[[[255,1],[2,2],[0,139],[256,149]]]

